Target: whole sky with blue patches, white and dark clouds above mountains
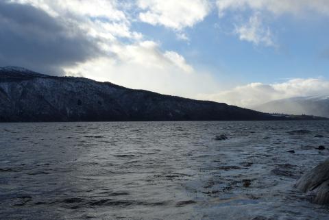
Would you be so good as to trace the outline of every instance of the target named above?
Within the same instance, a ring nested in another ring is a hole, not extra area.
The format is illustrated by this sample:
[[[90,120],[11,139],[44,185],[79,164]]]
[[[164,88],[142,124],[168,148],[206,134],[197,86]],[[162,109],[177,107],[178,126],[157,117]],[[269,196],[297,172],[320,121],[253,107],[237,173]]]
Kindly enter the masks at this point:
[[[329,95],[327,0],[0,0],[0,66],[251,107]]]

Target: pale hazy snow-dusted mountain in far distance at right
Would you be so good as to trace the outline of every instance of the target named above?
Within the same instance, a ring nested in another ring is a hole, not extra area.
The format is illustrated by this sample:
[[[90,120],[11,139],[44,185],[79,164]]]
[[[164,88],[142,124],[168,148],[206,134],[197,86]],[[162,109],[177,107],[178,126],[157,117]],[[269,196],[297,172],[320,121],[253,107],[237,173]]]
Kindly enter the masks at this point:
[[[269,101],[252,109],[260,112],[308,114],[319,117],[329,117],[329,96],[280,99]]]

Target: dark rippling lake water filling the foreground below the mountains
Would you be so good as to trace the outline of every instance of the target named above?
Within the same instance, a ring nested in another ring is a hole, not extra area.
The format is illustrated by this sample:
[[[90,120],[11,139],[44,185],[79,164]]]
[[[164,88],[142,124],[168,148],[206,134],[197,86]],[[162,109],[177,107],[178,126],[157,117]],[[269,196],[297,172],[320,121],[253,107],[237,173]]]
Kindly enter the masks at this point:
[[[319,145],[329,121],[1,123],[0,219],[328,219],[293,187]]]

